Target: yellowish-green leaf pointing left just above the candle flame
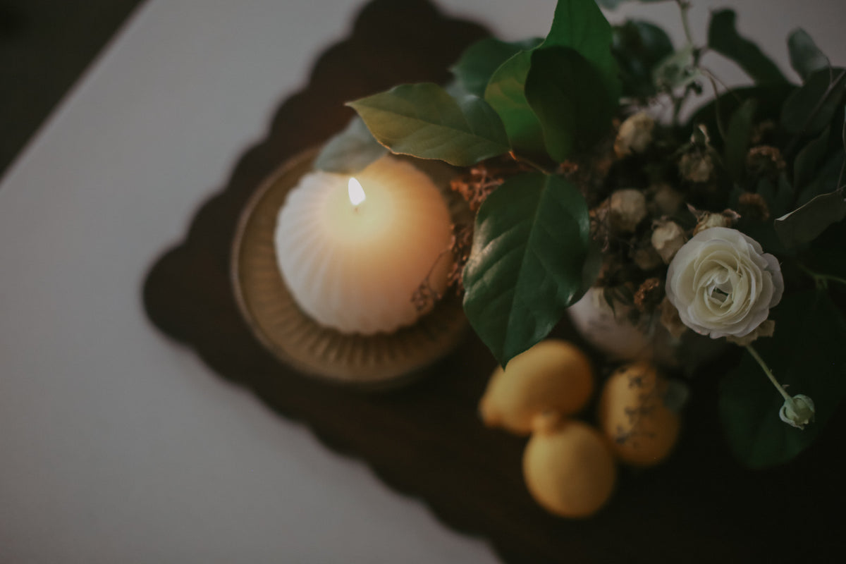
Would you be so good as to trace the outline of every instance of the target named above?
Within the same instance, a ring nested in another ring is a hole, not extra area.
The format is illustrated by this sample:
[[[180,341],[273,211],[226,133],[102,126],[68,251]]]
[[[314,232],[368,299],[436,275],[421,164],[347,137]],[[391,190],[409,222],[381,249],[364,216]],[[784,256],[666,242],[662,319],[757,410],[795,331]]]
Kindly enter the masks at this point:
[[[399,85],[347,105],[394,153],[468,167],[509,151],[503,123],[485,101],[455,100],[431,83]]]

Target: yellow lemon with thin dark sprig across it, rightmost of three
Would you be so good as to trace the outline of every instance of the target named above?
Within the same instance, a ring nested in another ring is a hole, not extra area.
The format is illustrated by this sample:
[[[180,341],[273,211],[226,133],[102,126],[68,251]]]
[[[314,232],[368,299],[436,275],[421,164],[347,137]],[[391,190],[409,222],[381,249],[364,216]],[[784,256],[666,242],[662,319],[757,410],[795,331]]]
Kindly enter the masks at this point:
[[[605,383],[599,424],[614,454],[632,466],[660,463],[678,439],[678,413],[667,408],[667,381],[646,362],[625,364]]]

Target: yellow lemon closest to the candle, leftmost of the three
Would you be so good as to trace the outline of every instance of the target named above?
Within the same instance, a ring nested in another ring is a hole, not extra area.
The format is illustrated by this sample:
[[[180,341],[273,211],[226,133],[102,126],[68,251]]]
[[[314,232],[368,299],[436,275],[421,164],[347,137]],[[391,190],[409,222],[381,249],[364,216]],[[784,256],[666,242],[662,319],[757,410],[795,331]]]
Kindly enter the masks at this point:
[[[497,366],[479,403],[489,427],[529,435],[532,419],[544,412],[577,413],[593,392],[591,361],[567,341],[547,339]]]

